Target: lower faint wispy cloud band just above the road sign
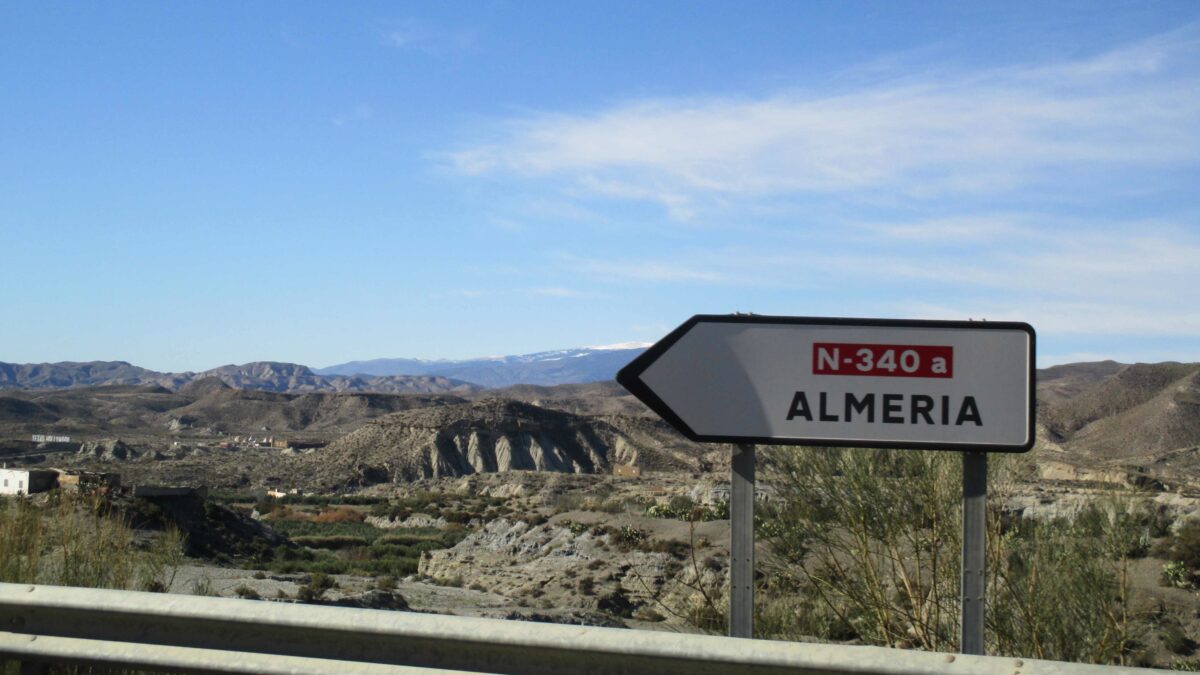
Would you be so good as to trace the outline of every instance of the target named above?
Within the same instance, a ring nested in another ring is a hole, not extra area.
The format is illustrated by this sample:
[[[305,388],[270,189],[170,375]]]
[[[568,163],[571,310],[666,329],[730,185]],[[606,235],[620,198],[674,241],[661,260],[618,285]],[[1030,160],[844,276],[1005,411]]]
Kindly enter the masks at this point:
[[[1112,221],[1087,232],[1034,222],[1016,215],[944,217],[848,227],[820,250],[776,240],[636,261],[560,262],[598,282],[740,288],[751,300],[781,291],[797,298],[797,310],[829,297],[844,299],[833,309],[839,315],[1020,319],[1060,336],[1200,336],[1200,304],[1190,301],[1200,288],[1194,227]],[[864,243],[864,232],[871,241]],[[863,299],[851,300],[850,289]]]

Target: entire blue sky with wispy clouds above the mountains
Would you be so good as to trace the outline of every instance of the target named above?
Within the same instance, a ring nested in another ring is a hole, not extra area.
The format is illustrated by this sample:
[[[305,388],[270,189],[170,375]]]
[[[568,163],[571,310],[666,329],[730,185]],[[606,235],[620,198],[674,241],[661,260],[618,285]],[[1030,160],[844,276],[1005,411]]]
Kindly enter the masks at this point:
[[[1200,360],[1200,4],[6,2],[0,360],[1028,321]]]

